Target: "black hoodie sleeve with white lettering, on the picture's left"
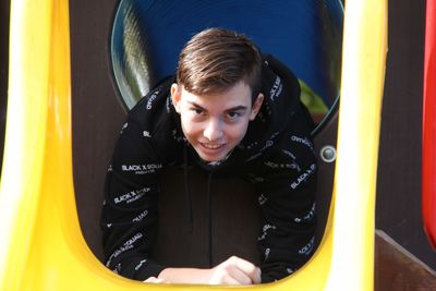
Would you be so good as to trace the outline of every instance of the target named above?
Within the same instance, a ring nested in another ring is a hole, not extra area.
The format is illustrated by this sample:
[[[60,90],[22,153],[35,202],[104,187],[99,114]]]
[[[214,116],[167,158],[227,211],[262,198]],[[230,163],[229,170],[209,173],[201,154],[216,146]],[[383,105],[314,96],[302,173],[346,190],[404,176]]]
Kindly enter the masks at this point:
[[[165,268],[149,259],[162,167],[149,137],[132,119],[123,125],[106,175],[100,220],[106,266],[135,280],[157,277]]]

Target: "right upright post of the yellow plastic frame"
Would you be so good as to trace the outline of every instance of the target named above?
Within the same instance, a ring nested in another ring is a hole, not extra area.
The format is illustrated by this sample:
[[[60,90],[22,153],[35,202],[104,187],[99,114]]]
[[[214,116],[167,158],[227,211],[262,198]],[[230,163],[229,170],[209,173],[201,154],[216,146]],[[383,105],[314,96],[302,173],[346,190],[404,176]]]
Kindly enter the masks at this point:
[[[332,264],[326,290],[373,290],[386,1],[347,1],[335,177]]]

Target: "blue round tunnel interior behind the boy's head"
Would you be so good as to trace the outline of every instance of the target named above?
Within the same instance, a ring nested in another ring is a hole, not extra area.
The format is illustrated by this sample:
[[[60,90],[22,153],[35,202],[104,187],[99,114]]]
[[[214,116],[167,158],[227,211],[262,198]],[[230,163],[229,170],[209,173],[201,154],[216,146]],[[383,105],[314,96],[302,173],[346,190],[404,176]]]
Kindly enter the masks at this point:
[[[311,112],[325,114],[339,95],[342,22],[339,0],[122,0],[111,36],[113,74],[132,108],[174,73],[186,40],[204,28],[223,27],[286,63],[302,82]]]

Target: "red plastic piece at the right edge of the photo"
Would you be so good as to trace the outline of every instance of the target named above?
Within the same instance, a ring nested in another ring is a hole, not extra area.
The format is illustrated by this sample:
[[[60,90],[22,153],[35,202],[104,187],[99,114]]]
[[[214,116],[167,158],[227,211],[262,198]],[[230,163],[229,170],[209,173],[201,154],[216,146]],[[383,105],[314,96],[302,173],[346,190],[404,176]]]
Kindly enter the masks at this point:
[[[436,0],[427,0],[423,93],[422,213],[436,250]]]

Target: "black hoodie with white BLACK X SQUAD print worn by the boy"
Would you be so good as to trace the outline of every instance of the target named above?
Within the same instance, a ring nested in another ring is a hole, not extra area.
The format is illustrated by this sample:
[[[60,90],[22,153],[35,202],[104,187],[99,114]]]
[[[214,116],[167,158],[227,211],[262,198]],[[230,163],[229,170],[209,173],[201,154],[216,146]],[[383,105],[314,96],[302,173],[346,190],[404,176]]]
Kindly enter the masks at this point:
[[[263,282],[281,279],[307,262],[316,223],[313,123],[300,102],[296,77],[271,56],[263,60],[262,109],[221,162],[207,163],[189,146],[170,97],[173,78],[130,111],[106,177],[101,227],[107,267],[136,280],[157,277],[166,268],[149,259],[157,227],[157,175],[166,166],[187,162],[186,156],[207,171],[238,174],[255,184],[263,215]]]

